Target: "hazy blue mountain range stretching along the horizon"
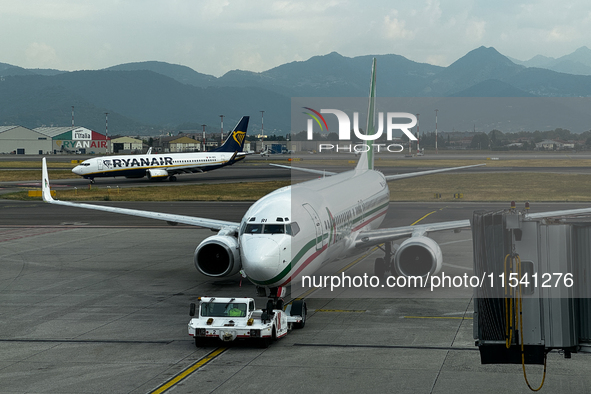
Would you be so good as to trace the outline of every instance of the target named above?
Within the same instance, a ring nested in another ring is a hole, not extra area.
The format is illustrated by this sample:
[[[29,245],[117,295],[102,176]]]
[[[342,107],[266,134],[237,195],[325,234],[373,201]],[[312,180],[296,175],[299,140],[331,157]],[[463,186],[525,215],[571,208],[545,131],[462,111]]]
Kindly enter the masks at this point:
[[[373,57],[377,58],[378,96],[423,98],[417,111],[430,111],[429,106],[436,108],[437,103],[446,107],[440,101],[444,98],[448,98],[447,103],[462,97],[498,99],[483,101],[487,111],[476,112],[486,119],[479,118],[478,122],[472,116],[467,119],[459,108],[447,112],[448,120],[452,113],[454,119],[466,118],[454,123],[456,130],[471,130],[476,123],[478,127],[497,124],[505,128],[502,131],[570,127],[581,132],[591,128],[586,102],[565,106],[565,101],[555,101],[591,97],[591,50],[586,47],[558,59],[536,56],[524,62],[503,56],[492,47],[480,47],[447,67],[394,54],[349,58],[332,52],[260,73],[233,70],[219,78],[154,61],[74,72],[0,63],[0,124],[65,126],[71,122],[74,106],[75,123],[100,132],[106,127],[108,113],[110,135],[202,130],[203,124],[207,131],[217,132],[220,115],[224,115],[226,130],[241,116],[250,115],[253,133],[260,131],[264,111],[265,134],[284,135],[292,128],[292,97],[367,96]],[[576,70],[585,74],[585,67],[589,75],[575,74]],[[572,71],[564,71],[567,69]],[[527,101],[531,104],[524,106],[522,113],[528,115],[522,120],[497,121],[507,112],[503,112],[506,100],[500,98],[512,98],[512,103],[526,102],[514,101],[517,98],[550,101]],[[554,104],[540,105],[542,102]],[[566,107],[568,110],[563,110]],[[536,115],[536,108],[543,108],[544,113]],[[445,122],[442,127],[445,129]]]

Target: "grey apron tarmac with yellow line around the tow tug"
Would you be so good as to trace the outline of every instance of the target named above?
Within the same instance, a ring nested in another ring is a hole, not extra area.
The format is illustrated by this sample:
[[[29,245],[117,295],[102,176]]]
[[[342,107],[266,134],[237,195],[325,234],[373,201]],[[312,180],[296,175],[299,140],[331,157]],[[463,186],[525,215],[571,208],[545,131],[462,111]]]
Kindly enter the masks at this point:
[[[234,221],[249,205],[112,204]],[[425,222],[469,219],[476,209],[505,205],[391,203],[382,227],[408,225],[430,212]],[[582,206],[532,204],[532,210]],[[213,280],[195,269],[195,247],[213,234],[0,200],[0,393],[530,392],[521,365],[480,364],[469,289],[395,289],[391,296],[317,290],[306,297],[305,328],[267,349],[197,348],[187,334],[191,302],[255,296],[239,276]],[[432,237],[446,272],[471,272],[469,231]],[[319,274],[347,266],[348,275],[371,274],[376,257],[370,251]],[[543,368],[526,369],[538,387]],[[541,392],[591,392],[591,355],[564,359],[551,352]]]

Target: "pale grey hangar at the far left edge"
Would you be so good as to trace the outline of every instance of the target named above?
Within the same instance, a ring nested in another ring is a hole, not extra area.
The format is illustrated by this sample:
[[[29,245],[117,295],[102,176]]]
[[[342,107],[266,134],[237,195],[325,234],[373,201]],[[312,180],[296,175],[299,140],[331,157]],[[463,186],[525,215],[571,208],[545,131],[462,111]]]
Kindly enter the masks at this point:
[[[0,153],[42,155],[51,152],[51,138],[23,126],[0,126]]]

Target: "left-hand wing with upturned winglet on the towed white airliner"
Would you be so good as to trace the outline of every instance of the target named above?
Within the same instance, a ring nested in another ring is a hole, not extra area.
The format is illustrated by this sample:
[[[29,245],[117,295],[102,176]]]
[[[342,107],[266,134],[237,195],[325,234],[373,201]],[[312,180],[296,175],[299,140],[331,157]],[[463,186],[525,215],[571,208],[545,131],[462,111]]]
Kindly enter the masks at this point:
[[[210,228],[213,230],[228,229],[231,231],[238,231],[238,229],[240,228],[240,223],[228,222],[228,221],[224,221],[224,220],[197,218],[197,217],[193,217],[193,216],[175,215],[175,214],[170,214],[170,213],[142,211],[139,209],[118,208],[118,207],[109,207],[109,206],[103,206],[103,205],[93,205],[93,204],[54,200],[53,197],[51,196],[51,189],[49,187],[49,176],[47,175],[47,163],[46,163],[45,157],[43,158],[43,180],[42,180],[41,188],[42,188],[43,201],[48,202],[50,204],[65,205],[65,206],[70,206],[70,207],[78,207],[78,208],[86,208],[86,209],[94,209],[97,211],[113,212],[113,213],[120,213],[120,214],[125,214],[125,215],[132,215],[132,216],[140,216],[140,217],[144,217],[144,218],[148,218],[148,219],[164,220],[164,221],[167,221],[171,224],[172,223],[175,223],[175,224],[182,223],[182,224],[188,224],[191,226]]]

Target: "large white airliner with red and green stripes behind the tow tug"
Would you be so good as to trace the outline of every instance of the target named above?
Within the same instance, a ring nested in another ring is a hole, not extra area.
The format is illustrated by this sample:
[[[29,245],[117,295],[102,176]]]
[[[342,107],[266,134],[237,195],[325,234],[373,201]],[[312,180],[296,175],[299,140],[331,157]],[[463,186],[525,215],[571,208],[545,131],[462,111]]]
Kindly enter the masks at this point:
[[[375,119],[375,60],[372,69],[367,130]],[[370,141],[368,141],[370,142]],[[464,166],[384,176],[374,170],[373,152],[361,154],[354,170],[278,189],[255,202],[240,222],[197,218],[117,207],[54,200],[43,159],[43,199],[52,204],[135,215],[218,230],[195,249],[194,263],[204,275],[224,277],[240,270],[262,295],[279,301],[285,286],[300,275],[311,275],[323,264],[360,254],[385,243],[385,257],[375,262],[376,275],[435,274],[442,265],[431,231],[469,227],[468,220],[379,228],[389,206],[388,181],[470,168]],[[408,238],[394,251],[392,241]]]

